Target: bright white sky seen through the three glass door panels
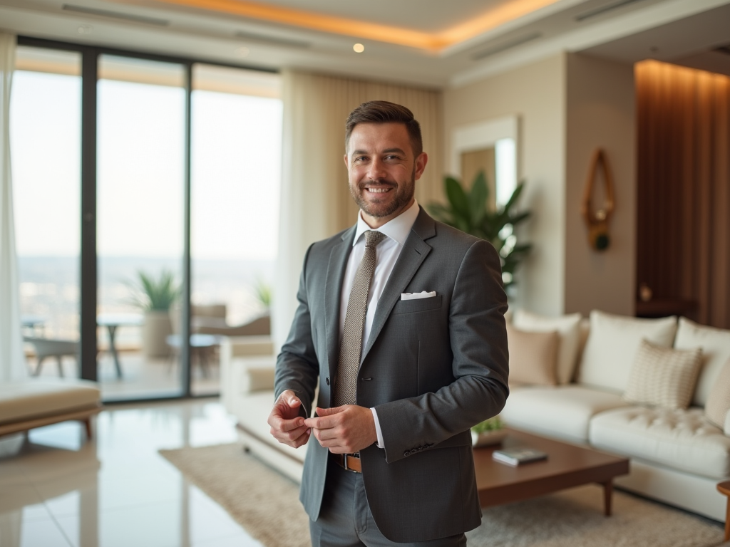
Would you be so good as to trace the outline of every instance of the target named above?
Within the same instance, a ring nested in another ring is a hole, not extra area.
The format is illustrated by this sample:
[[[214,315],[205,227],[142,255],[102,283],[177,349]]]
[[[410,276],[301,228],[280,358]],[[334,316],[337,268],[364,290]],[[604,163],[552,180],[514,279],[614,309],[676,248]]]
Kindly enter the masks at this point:
[[[100,80],[101,257],[183,252],[181,88]],[[281,101],[193,91],[193,259],[277,253]],[[80,78],[16,71],[10,113],[20,256],[74,256],[80,238]]]

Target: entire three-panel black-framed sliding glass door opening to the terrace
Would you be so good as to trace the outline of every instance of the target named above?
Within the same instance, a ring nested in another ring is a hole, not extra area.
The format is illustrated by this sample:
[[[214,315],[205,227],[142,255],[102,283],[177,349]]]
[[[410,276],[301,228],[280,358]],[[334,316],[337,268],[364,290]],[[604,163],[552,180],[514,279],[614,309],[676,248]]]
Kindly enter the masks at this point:
[[[28,368],[97,380],[104,400],[215,394],[221,337],[270,332],[278,76],[18,40]]]

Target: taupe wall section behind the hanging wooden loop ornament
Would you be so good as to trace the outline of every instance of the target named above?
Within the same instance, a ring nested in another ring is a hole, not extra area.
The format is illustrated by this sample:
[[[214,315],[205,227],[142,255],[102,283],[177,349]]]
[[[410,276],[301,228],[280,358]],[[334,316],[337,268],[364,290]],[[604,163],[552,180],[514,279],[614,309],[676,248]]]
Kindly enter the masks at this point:
[[[634,69],[588,55],[566,58],[565,311],[634,314],[636,140]],[[596,252],[580,216],[591,155],[603,148],[613,175],[610,247]]]

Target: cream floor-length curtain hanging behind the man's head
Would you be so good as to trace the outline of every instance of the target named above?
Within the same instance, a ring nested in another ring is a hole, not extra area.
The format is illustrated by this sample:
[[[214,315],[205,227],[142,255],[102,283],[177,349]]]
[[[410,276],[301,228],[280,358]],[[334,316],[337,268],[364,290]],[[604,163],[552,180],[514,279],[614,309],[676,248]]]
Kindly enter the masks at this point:
[[[365,101],[392,101],[420,122],[426,173],[416,183],[422,205],[442,195],[442,96],[439,91],[285,71],[279,258],[272,311],[274,344],[288,335],[307,247],[356,221],[347,190],[345,120]]]

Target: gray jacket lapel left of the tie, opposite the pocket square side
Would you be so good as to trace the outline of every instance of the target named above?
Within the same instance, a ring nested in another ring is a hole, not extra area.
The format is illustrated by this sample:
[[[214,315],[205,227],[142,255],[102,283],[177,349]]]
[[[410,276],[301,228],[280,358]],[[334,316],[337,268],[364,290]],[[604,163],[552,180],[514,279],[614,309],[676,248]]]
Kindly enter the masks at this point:
[[[339,302],[342,294],[342,281],[345,278],[347,257],[353,248],[355,226],[342,234],[342,241],[332,249],[327,266],[327,278],[324,291],[325,330],[327,334],[327,360],[329,376],[332,381],[337,375],[339,359]]]

